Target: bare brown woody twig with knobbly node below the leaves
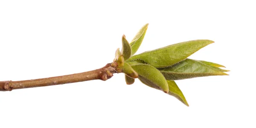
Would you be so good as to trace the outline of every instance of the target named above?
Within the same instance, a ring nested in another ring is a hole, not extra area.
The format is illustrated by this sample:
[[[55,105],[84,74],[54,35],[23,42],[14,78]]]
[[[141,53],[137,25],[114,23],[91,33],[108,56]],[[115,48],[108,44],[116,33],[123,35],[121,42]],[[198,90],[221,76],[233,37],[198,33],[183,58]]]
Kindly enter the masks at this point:
[[[112,66],[111,66],[112,65]],[[116,68],[116,62],[107,64],[105,67],[97,70],[92,70],[84,73],[76,73],[65,76],[56,76],[43,79],[32,79],[25,81],[0,81],[0,91],[11,91],[13,89],[22,89],[30,87],[43,87],[58,84],[75,83],[81,81],[90,81],[95,79],[108,80],[113,76],[113,73],[120,73]]]

